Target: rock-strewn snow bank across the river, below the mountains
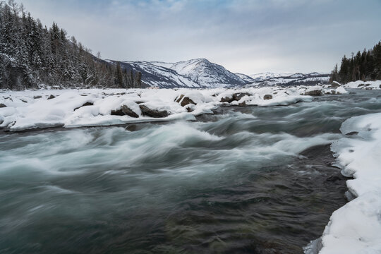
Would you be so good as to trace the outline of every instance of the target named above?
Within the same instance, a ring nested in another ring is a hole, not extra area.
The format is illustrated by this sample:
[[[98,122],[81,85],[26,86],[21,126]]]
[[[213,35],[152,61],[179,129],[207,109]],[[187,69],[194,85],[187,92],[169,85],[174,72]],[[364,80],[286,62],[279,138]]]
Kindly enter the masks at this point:
[[[345,93],[344,88],[262,87],[212,90],[36,90],[0,92],[0,128],[109,126],[144,121],[195,120],[221,105],[274,106],[310,102],[310,95]]]

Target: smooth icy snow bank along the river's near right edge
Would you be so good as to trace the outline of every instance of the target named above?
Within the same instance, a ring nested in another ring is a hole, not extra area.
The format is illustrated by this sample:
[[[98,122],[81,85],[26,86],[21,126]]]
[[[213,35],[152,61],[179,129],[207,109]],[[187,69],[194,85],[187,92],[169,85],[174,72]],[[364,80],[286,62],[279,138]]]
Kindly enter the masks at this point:
[[[347,135],[332,143],[346,185],[356,196],[335,211],[322,235],[320,254],[381,253],[381,114],[356,116],[341,125]]]

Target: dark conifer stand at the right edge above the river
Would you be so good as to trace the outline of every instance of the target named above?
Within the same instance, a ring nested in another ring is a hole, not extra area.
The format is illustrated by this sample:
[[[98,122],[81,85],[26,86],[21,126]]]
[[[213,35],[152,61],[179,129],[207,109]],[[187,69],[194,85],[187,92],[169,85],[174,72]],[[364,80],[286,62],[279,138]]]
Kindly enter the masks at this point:
[[[356,80],[381,80],[381,41],[373,49],[352,53],[351,58],[344,56],[340,69],[334,66],[331,82],[349,83]]]

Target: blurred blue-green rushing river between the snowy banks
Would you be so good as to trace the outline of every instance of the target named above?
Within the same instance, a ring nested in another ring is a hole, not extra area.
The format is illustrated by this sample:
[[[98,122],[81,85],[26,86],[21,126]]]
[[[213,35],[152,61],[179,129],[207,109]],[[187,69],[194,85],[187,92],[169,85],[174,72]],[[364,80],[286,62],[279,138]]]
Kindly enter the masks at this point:
[[[353,90],[194,122],[0,133],[0,253],[303,253],[345,204]],[[126,127],[126,128],[125,128]]]

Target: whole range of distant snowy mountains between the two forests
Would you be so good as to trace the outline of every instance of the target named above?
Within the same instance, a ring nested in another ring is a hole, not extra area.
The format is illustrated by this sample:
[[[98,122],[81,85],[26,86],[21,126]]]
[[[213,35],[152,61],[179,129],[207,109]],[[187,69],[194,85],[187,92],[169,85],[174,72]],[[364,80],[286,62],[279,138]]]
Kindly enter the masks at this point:
[[[116,61],[109,60],[110,63]],[[269,85],[317,85],[327,83],[326,73],[231,73],[207,59],[192,59],[177,63],[162,61],[121,61],[126,70],[140,71],[146,86],[171,87],[242,87]]]

